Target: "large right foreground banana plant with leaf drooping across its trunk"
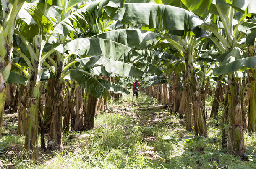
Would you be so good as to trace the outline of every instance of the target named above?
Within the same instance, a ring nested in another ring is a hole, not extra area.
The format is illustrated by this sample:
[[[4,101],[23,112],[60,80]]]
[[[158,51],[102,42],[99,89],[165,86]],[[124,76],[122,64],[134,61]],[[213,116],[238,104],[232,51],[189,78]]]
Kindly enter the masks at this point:
[[[247,21],[246,17],[256,15],[256,9],[253,8],[253,2],[251,0],[196,0],[193,1],[193,3],[188,0],[182,0],[182,2],[189,10],[202,17],[208,16],[207,19],[209,19],[212,15],[213,22],[209,20],[210,24],[205,25],[204,29],[210,30],[215,35],[217,39],[211,38],[211,40],[222,54],[219,56],[221,66],[215,68],[214,73],[220,75],[227,74],[229,78],[228,114],[230,127],[228,132],[228,147],[232,153],[243,156],[245,150],[243,122],[242,118],[240,118],[242,115],[241,101],[238,93],[239,76],[236,71],[245,67],[253,68],[255,66],[253,64],[255,63],[255,58],[247,58],[247,55],[241,48],[239,41],[244,35],[239,32],[239,26]],[[208,8],[206,8],[206,6],[208,6]],[[238,12],[236,12],[236,10],[238,10]],[[234,67],[231,68],[231,66]]]

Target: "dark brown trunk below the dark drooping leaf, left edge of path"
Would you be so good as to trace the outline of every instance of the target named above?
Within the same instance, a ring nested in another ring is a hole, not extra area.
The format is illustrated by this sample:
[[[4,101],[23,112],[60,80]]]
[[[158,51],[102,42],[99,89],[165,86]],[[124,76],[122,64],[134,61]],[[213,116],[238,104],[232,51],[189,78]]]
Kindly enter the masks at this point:
[[[94,127],[94,116],[95,116],[95,108],[97,104],[97,98],[89,94],[86,114],[84,116],[84,129],[90,130]]]

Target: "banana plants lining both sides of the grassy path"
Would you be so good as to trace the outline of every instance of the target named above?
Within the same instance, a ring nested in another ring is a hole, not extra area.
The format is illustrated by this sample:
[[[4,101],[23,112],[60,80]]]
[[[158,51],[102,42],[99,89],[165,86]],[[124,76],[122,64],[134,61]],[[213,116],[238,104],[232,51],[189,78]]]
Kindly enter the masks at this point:
[[[110,92],[129,94],[136,77],[195,135],[207,137],[213,93],[211,114],[224,103],[228,148],[243,156],[243,131],[256,131],[255,1],[147,2],[1,0],[0,133],[5,109],[18,111],[31,159],[38,133],[42,149],[46,133],[60,149],[63,132],[93,128]]]

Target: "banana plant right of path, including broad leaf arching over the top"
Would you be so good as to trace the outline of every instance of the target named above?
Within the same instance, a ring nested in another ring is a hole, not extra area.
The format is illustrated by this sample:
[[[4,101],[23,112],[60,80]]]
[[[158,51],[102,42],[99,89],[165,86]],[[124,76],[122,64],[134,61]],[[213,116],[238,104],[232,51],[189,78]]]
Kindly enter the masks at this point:
[[[149,15],[149,13],[153,13],[154,15]],[[185,88],[188,95],[191,96],[188,98],[193,97],[195,134],[207,136],[206,119],[202,108],[203,105],[199,97],[200,92],[193,67],[193,58],[198,54],[194,48],[199,45],[200,41],[197,37],[209,36],[199,27],[196,27],[205,24],[204,21],[183,8],[154,3],[125,3],[123,8],[119,8],[113,12],[110,17],[115,20],[120,20],[121,23],[134,25],[141,24],[149,28],[155,28],[156,31],[170,30],[170,33],[172,34],[185,37],[184,39],[178,37],[178,40],[175,41],[169,34],[163,35],[163,38],[169,41],[169,45],[172,45],[181,53],[181,57],[185,61]],[[196,37],[192,31],[197,34]],[[192,103],[192,100],[188,101],[188,103],[189,102]],[[192,124],[190,126],[192,129]]]

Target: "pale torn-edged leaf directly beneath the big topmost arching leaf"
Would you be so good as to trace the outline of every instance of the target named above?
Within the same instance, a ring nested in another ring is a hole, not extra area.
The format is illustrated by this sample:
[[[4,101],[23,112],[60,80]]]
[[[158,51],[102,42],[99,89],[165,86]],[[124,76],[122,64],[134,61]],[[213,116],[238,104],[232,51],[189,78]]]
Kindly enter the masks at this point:
[[[104,33],[93,36],[94,38],[102,38],[112,40],[118,43],[122,43],[131,48],[136,47],[144,49],[149,45],[157,43],[157,37],[160,37],[158,33],[140,30],[140,29],[118,29],[107,31]]]

